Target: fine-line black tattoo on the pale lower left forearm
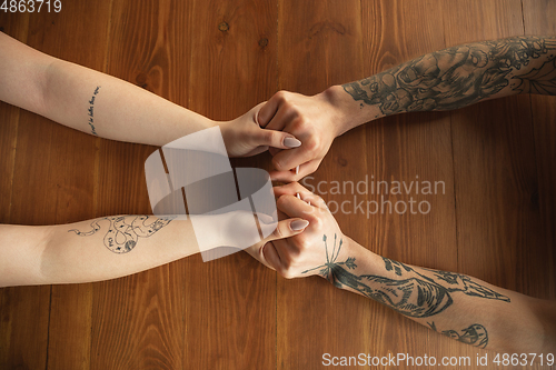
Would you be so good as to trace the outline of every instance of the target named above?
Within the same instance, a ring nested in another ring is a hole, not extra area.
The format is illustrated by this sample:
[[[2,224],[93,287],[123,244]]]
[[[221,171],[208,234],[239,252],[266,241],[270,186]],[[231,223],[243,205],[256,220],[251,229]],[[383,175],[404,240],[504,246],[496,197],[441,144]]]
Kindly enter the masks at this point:
[[[147,220],[151,222],[147,223]],[[152,219],[155,219],[152,221]],[[99,222],[109,221],[108,231],[105,234],[105,246],[115,253],[127,253],[136,246],[139,238],[149,238],[158,230],[170,223],[171,218],[159,219],[151,216],[118,216],[105,217],[91,222],[91,231],[73,231],[80,237],[90,237],[100,230]],[[69,232],[68,231],[68,232]]]

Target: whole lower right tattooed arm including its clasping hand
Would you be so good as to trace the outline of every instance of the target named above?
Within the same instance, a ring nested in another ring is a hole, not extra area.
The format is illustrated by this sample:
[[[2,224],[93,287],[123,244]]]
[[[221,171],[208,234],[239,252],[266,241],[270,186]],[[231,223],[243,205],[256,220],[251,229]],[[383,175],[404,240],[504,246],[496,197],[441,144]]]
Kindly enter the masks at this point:
[[[310,222],[302,233],[254,253],[282,276],[320,276],[467,344],[506,353],[556,351],[554,301],[383,258],[344,236],[324,201],[300,184],[276,188],[276,194],[282,212]]]

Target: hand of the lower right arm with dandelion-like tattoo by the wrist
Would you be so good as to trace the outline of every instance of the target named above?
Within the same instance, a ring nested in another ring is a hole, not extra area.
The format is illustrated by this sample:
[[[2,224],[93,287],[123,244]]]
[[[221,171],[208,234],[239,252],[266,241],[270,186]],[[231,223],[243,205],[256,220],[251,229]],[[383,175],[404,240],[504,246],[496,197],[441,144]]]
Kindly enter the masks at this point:
[[[278,271],[285,278],[299,278],[319,274],[329,278],[326,263],[342,260],[346,243],[338,223],[325,201],[312,194],[297,182],[276,187],[279,218],[291,217],[309,221],[300,233],[284,233],[277,229],[277,238],[249,248],[248,251],[261,263]],[[301,199],[296,194],[299,193]],[[310,203],[310,204],[309,204]],[[345,244],[344,244],[345,247]]]

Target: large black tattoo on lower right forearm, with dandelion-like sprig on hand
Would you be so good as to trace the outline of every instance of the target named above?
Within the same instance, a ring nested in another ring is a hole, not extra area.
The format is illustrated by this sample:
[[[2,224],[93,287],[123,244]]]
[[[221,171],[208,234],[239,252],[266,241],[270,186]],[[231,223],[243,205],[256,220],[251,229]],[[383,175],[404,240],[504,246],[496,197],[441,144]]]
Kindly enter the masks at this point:
[[[479,284],[471,278],[453,272],[431,271],[426,276],[415,269],[383,258],[386,271],[393,271],[400,279],[391,279],[378,274],[357,276],[348,270],[357,268],[356,259],[349,257],[344,262],[337,262],[342,241],[336,250],[336,234],[331,254],[328,253],[326,236],[322,237],[327,262],[306,270],[302,273],[319,270],[319,274],[338,288],[349,288],[363,296],[371,298],[390,307],[401,314],[413,318],[427,318],[438,314],[451,306],[453,292],[467,296],[495,299],[509,302],[509,298]]]

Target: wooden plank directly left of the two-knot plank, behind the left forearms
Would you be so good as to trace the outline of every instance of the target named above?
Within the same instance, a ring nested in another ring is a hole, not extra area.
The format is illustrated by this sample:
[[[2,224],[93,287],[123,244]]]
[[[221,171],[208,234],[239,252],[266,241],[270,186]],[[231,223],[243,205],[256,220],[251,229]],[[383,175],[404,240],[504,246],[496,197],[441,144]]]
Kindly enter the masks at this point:
[[[190,11],[187,1],[115,1],[107,73],[186,103]],[[155,149],[100,142],[97,217],[151,213],[145,160]],[[173,264],[93,284],[90,368],[181,369],[182,286]]]

